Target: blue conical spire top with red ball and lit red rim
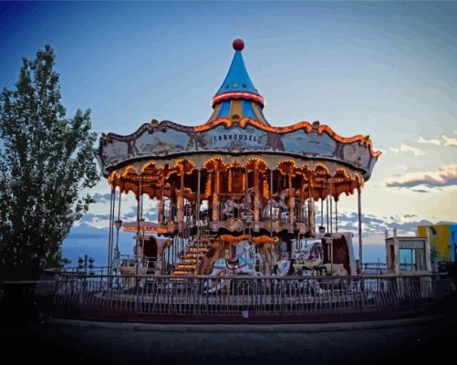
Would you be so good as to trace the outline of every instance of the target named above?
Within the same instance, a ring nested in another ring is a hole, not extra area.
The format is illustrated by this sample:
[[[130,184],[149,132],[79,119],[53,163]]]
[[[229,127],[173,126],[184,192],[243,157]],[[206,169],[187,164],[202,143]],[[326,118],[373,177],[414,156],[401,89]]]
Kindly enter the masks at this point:
[[[258,102],[261,108],[264,107],[264,98],[255,89],[253,81],[249,78],[241,51],[244,42],[241,39],[234,40],[234,59],[230,65],[227,76],[223,80],[221,89],[213,97],[212,105],[227,99],[244,99]]]

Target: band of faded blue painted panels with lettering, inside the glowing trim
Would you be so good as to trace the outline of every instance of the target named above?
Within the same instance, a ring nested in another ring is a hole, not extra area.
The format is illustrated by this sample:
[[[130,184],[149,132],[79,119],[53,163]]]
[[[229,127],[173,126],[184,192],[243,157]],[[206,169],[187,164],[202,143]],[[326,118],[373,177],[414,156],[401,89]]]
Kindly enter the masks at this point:
[[[371,172],[376,159],[369,154],[367,146],[358,141],[342,143],[335,141],[327,132],[294,130],[287,133],[265,131],[253,125],[230,128],[220,124],[213,129],[194,133],[171,122],[162,122],[159,127],[145,125],[142,131],[131,136],[111,137],[100,140],[99,153],[106,168],[119,162],[138,157],[162,157],[197,151],[226,151],[232,153],[277,152],[313,159],[329,159],[347,162],[355,168]]]

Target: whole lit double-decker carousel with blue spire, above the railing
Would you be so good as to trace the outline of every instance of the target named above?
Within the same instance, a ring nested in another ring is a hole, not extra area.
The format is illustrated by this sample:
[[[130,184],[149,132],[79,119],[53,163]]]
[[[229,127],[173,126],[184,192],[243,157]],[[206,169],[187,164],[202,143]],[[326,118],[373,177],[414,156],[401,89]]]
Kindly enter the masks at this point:
[[[96,156],[111,188],[109,274],[358,275],[361,191],[378,160],[369,136],[341,137],[318,121],[274,127],[244,66],[244,42],[198,126],[151,120],[130,135],[102,134]],[[124,194],[137,217],[122,222]],[[358,194],[353,235],[338,202]],[[147,221],[145,199],[155,202]],[[119,231],[133,253],[119,252]],[[124,255],[125,254],[125,255]],[[358,262],[357,262],[358,261]]]

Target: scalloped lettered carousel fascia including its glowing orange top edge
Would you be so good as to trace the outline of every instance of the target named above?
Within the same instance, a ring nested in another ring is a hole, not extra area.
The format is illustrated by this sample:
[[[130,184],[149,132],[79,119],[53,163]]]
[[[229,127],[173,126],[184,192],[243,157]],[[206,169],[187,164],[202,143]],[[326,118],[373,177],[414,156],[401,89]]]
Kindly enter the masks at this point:
[[[96,151],[105,176],[132,162],[160,162],[180,156],[192,159],[206,153],[293,156],[338,162],[362,172],[365,180],[369,179],[380,154],[373,150],[369,136],[345,138],[318,121],[271,127],[250,118],[239,122],[223,118],[197,127],[185,127],[168,120],[153,121],[127,136],[103,135]]]

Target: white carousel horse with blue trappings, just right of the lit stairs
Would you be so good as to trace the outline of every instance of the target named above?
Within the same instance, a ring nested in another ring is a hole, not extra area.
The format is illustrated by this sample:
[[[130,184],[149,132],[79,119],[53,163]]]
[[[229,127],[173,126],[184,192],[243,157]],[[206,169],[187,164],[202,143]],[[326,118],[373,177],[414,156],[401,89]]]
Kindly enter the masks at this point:
[[[210,276],[223,277],[234,275],[251,275],[261,276],[262,274],[255,270],[257,261],[260,262],[261,256],[255,252],[254,245],[250,245],[248,241],[240,241],[236,245],[234,258],[218,258],[213,264],[213,272]],[[208,279],[204,283],[204,292],[213,293],[226,287],[229,284],[227,279],[219,280]]]

